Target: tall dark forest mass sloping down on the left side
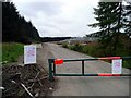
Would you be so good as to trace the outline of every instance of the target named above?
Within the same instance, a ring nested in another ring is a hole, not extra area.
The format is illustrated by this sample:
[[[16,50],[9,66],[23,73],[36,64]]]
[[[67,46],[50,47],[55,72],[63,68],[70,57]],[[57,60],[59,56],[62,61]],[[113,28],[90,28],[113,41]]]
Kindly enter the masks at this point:
[[[2,41],[40,41],[35,26],[19,14],[13,2],[2,2]]]

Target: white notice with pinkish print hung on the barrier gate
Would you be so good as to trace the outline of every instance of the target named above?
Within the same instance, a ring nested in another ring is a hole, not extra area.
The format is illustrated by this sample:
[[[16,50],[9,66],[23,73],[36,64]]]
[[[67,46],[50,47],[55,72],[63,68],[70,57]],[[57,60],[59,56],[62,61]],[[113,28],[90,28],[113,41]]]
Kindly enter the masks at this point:
[[[122,59],[112,60],[112,74],[122,73]]]

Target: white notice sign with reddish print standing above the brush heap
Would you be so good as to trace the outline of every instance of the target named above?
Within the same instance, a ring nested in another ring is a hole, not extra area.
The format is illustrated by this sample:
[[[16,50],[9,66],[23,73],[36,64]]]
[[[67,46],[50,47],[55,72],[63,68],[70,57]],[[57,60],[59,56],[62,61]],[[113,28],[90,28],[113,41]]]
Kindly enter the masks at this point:
[[[36,63],[36,46],[24,46],[24,64]]]

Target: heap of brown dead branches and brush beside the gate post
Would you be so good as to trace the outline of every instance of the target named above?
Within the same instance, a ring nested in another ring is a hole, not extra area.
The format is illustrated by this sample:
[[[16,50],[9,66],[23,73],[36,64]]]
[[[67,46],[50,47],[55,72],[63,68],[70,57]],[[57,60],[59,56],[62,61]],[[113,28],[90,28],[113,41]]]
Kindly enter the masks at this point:
[[[15,64],[2,68],[2,98],[19,97],[24,98],[48,96],[52,91],[53,83],[47,78],[47,73],[40,71],[41,65],[32,64],[20,66]],[[22,86],[24,85],[32,96]]]

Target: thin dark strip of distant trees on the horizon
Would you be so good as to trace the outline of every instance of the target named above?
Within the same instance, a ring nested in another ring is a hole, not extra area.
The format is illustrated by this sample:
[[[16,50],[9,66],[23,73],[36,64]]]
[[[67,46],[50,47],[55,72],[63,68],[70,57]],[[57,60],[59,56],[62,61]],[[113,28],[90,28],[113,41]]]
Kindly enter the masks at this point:
[[[43,42],[48,42],[48,41],[60,41],[60,40],[66,40],[70,39],[71,37],[43,37],[41,41]]]

